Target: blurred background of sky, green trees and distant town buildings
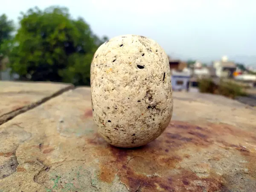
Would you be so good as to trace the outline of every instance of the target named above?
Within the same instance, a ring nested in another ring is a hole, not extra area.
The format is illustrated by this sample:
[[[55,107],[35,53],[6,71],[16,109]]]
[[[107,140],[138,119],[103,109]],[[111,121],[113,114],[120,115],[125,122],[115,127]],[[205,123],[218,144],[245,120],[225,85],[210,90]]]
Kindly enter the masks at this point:
[[[256,106],[256,1],[9,0],[0,6],[0,80],[90,85],[96,49],[117,35],[152,38],[177,91]]]

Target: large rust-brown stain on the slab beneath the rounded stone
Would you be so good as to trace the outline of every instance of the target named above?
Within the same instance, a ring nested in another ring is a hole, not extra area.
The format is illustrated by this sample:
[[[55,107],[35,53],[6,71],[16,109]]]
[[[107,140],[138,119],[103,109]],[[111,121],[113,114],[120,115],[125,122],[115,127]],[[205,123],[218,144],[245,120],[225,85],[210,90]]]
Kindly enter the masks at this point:
[[[211,154],[213,152],[207,152],[207,149],[218,145],[220,150],[232,150],[247,159],[249,172],[255,173],[256,166],[252,162],[256,161],[256,156],[250,152],[254,148],[239,145],[246,138],[247,143],[256,146],[252,135],[231,125],[208,123],[197,126],[172,121],[160,137],[139,148],[116,148],[105,143],[97,134],[93,140],[88,140],[88,145],[93,145],[94,152],[105,157],[104,162],[100,163],[99,173],[99,179],[104,182],[111,183],[118,175],[132,192],[214,192],[225,191],[231,184],[221,174],[216,174],[218,168],[214,167],[215,164],[209,163],[224,160],[224,154]],[[205,156],[209,156],[205,159],[207,162],[197,159],[194,168],[183,163],[192,161],[195,158],[193,153],[196,156],[204,149]]]

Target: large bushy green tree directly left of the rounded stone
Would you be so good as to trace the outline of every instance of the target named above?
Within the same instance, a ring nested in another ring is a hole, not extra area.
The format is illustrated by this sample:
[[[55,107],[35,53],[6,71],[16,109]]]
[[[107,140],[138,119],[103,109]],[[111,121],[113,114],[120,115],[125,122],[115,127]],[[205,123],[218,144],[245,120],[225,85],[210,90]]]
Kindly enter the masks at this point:
[[[63,7],[37,7],[22,13],[12,49],[12,72],[32,81],[90,85],[93,53],[98,38],[82,19],[72,19]]]

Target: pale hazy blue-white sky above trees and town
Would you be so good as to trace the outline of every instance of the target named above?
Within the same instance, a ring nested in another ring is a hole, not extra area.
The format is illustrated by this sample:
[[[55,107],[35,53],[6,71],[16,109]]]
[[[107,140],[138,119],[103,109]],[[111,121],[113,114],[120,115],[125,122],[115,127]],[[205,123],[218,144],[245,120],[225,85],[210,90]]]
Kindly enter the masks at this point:
[[[255,0],[8,0],[0,15],[18,23],[20,12],[34,6],[65,6],[100,37],[152,38],[174,58],[207,62],[227,55],[256,66]]]

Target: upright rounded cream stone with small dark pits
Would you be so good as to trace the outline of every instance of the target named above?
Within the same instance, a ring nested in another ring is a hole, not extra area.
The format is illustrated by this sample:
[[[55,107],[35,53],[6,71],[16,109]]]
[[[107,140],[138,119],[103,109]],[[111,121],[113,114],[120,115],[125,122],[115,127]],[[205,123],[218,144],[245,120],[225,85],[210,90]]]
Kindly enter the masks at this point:
[[[93,119],[111,145],[145,145],[172,118],[168,56],[154,40],[122,35],[102,44],[90,72]]]

